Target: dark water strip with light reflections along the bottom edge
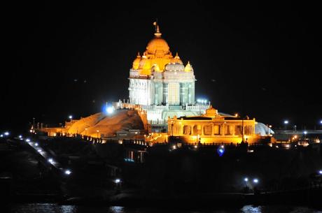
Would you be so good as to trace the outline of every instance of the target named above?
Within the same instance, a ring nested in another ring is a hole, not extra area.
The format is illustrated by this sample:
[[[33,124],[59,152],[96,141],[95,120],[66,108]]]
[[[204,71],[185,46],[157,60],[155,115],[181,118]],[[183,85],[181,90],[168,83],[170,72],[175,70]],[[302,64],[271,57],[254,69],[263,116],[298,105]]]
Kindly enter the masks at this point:
[[[173,210],[134,207],[92,207],[79,205],[57,205],[52,203],[15,204],[11,207],[14,213],[322,213],[309,207],[292,207],[283,205],[253,206],[245,205],[235,210]]]

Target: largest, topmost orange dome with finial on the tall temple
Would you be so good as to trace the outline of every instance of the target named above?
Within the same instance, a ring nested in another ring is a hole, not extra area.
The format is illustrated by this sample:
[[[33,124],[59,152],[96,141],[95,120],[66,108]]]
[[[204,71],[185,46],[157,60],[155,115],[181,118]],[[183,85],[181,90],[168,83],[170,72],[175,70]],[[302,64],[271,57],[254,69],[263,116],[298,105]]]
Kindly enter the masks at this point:
[[[148,43],[148,46],[146,46],[146,52],[148,52],[148,54],[168,54],[170,47],[167,41],[161,38],[162,34],[160,33],[159,26],[157,26],[154,35],[155,37]]]

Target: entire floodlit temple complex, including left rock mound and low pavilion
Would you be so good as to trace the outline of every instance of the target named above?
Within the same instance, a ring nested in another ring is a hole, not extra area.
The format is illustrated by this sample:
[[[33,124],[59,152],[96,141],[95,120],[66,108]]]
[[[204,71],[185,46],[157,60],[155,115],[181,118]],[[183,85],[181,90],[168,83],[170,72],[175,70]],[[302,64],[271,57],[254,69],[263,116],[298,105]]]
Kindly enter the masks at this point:
[[[148,133],[146,139],[151,142],[165,142],[174,136],[186,142],[204,143],[236,143],[242,138],[256,142],[273,133],[255,119],[242,120],[218,112],[210,102],[196,101],[193,66],[189,61],[184,65],[178,53],[173,56],[161,35],[155,24],[154,38],[130,68],[129,100],[113,103],[119,110],[73,119],[65,126],[43,128],[43,131],[48,135],[76,134],[93,138],[122,135],[131,138],[133,132],[141,136]]]

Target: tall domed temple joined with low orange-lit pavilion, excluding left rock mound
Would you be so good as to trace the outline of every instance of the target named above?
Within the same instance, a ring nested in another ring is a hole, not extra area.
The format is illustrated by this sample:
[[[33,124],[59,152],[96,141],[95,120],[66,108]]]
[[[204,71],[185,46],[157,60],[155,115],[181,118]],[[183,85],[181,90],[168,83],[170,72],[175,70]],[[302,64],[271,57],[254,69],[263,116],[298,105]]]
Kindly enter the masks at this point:
[[[161,124],[167,135],[186,142],[256,142],[273,133],[255,119],[241,120],[218,113],[210,103],[196,103],[193,66],[189,61],[183,65],[178,53],[173,57],[156,23],[154,35],[143,55],[134,59],[129,78],[130,104],[146,112],[151,126]]]

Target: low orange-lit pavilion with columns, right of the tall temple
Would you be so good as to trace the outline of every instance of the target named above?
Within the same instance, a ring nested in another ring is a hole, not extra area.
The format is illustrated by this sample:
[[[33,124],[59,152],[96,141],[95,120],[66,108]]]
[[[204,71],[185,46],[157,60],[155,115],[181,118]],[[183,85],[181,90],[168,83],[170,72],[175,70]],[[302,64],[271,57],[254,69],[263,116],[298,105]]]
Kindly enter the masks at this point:
[[[242,142],[260,142],[262,137],[255,134],[255,119],[241,119],[232,115],[220,115],[218,110],[210,107],[201,116],[168,119],[168,135],[180,138],[186,143],[202,144],[237,144]]]

